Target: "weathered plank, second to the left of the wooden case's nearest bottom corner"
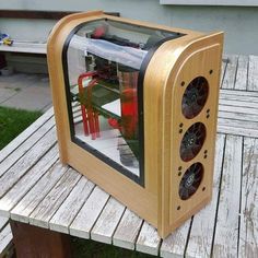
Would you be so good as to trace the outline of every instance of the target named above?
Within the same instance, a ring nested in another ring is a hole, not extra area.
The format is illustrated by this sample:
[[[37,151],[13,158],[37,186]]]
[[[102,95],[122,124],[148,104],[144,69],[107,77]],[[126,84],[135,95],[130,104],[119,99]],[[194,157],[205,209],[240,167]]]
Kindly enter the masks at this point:
[[[113,244],[127,249],[134,249],[134,243],[143,221],[136,213],[126,209],[113,236]]]

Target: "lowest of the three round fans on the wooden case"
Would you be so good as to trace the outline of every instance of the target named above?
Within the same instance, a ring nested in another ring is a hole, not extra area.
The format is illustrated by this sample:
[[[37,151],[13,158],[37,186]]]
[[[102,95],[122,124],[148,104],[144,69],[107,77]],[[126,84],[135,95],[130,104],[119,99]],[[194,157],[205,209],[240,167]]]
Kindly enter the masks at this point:
[[[199,188],[203,177],[201,163],[192,164],[184,174],[179,184],[179,197],[181,200],[189,199]]]

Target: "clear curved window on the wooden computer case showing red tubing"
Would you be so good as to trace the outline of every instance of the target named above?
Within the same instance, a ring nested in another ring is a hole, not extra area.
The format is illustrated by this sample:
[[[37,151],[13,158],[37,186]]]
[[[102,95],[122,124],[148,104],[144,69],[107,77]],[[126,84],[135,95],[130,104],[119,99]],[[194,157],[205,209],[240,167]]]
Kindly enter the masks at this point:
[[[72,138],[136,181],[143,172],[139,73],[148,51],[177,33],[98,20],[64,47]]]

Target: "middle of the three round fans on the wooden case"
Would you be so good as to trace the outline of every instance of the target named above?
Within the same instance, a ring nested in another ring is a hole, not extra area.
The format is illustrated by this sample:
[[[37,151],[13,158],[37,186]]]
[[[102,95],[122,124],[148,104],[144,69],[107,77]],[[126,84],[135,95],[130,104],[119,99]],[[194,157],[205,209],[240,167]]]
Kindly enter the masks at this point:
[[[194,124],[184,134],[180,144],[180,157],[188,162],[201,150],[206,140],[206,126],[202,122]]]

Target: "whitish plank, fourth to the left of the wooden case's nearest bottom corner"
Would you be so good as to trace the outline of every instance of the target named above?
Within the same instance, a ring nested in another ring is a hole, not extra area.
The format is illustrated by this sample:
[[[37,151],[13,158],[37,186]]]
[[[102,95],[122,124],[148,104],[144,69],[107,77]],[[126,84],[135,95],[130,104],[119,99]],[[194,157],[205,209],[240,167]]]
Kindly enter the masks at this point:
[[[109,195],[103,191],[99,187],[95,187],[70,225],[70,234],[82,238],[90,238],[90,231],[101,214],[108,198]]]

